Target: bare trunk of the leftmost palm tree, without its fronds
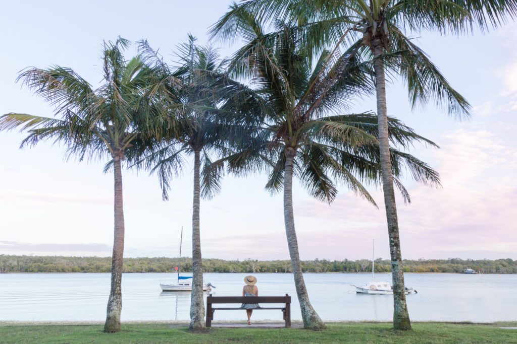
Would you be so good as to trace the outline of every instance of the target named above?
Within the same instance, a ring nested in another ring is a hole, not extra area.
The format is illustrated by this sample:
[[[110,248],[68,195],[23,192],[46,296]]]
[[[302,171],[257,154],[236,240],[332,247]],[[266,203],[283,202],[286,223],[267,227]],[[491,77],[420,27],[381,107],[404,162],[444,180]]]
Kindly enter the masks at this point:
[[[113,256],[111,260],[111,290],[108,299],[108,310],[105,332],[120,331],[120,312],[122,311],[122,260],[124,256],[124,209],[122,197],[122,168],[120,156],[113,158],[115,179],[115,234],[113,240]]]

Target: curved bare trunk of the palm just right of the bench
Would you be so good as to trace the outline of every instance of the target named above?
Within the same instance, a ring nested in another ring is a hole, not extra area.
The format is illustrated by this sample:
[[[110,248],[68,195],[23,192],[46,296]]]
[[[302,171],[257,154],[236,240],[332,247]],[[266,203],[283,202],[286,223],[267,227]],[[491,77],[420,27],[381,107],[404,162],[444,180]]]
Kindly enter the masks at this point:
[[[285,173],[284,173],[284,222],[285,234],[287,236],[287,245],[291,256],[291,266],[293,267],[294,283],[296,286],[296,294],[300,302],[301,317],[303,319],[303,327],[306,329],[320,330],[324,329],[325,323],[316,313],[309,301],[309,294],[303,281],[303,273],[301,272],[300,254],[298,252],[298,239],[294,228],[294,212],[293,212],[293,165],[296,150],[293,148],[285,149]]]

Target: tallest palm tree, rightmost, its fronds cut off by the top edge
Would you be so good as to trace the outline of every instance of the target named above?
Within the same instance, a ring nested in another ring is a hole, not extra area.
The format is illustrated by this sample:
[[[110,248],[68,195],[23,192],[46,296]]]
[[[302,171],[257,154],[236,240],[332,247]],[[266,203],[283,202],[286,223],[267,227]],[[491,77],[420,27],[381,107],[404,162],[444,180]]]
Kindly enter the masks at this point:
[[[517,15],[517,0],[243,0],[223,17],[240,10],[258,18],[283,18],[302,25],[302,35],[309,50],[338,44],[331,55],[339,54],[339,46],[359,38],[357,49],[369,55],[375,71],[379,150],[383,170],[383,192],[388,222],[393,278],[393,325],[409,330],[410,321],[404,294],[404,275],[399,239],[397,207],[389,159],[386,106],[386,70],[400,75],[408,86],[413,106],[434,99],[445,104],[449,114],[468,116],[469,104],[439,73],[427,55],[410,40],[405,31],[438,30],[455,34],[474,26],[482,30],[497,27]],[[238,27],[235,21],[234,27]],[[220,30],[225,39],[235,36],[235,28]],[[359,36],[359,37],[358,37]],[[367,49],[364,49],[366,47]]]

